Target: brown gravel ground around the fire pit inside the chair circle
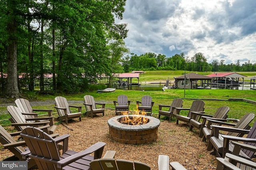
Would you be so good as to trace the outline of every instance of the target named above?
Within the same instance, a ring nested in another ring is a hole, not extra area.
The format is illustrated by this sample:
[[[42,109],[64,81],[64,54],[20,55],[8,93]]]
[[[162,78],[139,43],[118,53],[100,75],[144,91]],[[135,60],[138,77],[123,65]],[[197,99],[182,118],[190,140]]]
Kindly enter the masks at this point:
[[[47,105],[53,101],[31,102],[31,105]],[[69,101],[70,104],[72,103]],[[77,102],[77,101],[76,101]],[[81,103],[81,101],[79,101]],[[75,102],[73,102],[75,103]],[[215,170],[216,157],[206,150],[207,143],[198,138],[198,130],[190,132],[186,124],[162,121],[158,128],[156,142],[141,145],[127,145],[114,142],[108,136],[108,119],[115,116],[111,109],[106,109],[105,116],[96,116],[93,119],[83,117],[70,122],[67,126],[57,125],[56,130],[60,135],[71,134],[68,149],[82,151],[90,145],[102,141],[106,143],[106,150],[115,150],[117,159],[144,162],[152,170],[158,170],[158,155],[165,154],[170,157],[170,162],[180,162],[188,170]],[[9,127],[12,129],[12,127]],[[103,154],[104,154],[103,153]],[[1,150],[0,160],[11,156],[8,150]]]

